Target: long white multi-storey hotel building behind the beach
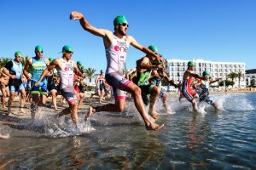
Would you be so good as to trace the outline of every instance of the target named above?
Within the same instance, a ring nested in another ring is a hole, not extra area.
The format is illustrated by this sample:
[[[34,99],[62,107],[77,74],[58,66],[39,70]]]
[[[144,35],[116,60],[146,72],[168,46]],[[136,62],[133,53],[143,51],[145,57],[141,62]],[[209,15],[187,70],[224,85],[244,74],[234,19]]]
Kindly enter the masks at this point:
[[[195,61],[195,73],[202,75],[203,71],[210,71],[211,77],[213,80],[217,78],[222,78],[226,80],[230,72],[240,72],[244,75],[241,77],[240,86],[246,86],[246,78],[245,78],[245,63],[236,63],[236,62],[213,62],[206,61],[203,59],[192,59]],[[188,68],[189,60],[181,60],[181,59],[167,59],[167,68],[166,72],[169,73],[171,80],[174,82],[182,82],[183,81],[183,73]],[[234,87],[238,87],[239,81],[238,78],[234,79],[235,85]],[[216,82],[217,85],[218,82]]]

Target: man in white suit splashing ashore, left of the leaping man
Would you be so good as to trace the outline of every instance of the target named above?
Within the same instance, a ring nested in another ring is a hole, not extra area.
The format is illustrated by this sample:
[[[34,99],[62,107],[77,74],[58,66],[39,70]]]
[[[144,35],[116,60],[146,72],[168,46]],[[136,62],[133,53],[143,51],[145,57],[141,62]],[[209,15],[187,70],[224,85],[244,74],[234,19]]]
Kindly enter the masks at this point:
[[[73,73],[79,77],[84,77],[79,71],[79,68],[75,65],[72,58],[73,48],[71,46],[65,45],[62,48],[62,57],[54,59],[49,66],[43,71],[38,82],[35,83],[37,86],[44,80],[44,77],[53,69],[57,69],[60,77],[60,90],[61,95],[67,100],[69,108],[62,110],[57,117],[71,114],[72,120],[77,127],[79,122],[78,116],[78,102],[75,90],[73,88]]]

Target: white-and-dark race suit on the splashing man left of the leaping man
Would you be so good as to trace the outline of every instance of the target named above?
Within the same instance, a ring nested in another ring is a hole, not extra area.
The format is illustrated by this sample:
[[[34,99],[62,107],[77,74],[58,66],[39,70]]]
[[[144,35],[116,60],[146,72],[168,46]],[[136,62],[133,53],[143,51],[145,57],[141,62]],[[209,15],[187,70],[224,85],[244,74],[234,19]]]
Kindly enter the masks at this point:
[[[61,58],[62,66],[58,70],[60,77],[61,95],[67,100],[68,104],[77,103],[77,96],[73,88],[73,67],[72,60],[65,61]]]

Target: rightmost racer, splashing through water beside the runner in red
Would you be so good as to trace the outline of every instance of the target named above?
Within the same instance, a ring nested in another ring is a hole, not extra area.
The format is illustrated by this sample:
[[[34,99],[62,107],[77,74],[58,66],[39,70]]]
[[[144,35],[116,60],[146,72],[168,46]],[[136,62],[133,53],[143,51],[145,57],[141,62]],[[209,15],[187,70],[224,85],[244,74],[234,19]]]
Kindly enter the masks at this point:
[[[210,81],[210,72],[209,71],[204,71],[203,72],[203,77],[206,78],[206,80],[201,80],[200,82],[197,82],[194,86],[195,89],[201,87],[201,91],[199,94],[199,101],[205,101],[207,104],[212,105],[216,110],[218,110],[218,103],[213,101],[210,96],[209,96],[209,86],[210,84],[214,82],[219,82],[221,78],[218,78],[215,81]]]

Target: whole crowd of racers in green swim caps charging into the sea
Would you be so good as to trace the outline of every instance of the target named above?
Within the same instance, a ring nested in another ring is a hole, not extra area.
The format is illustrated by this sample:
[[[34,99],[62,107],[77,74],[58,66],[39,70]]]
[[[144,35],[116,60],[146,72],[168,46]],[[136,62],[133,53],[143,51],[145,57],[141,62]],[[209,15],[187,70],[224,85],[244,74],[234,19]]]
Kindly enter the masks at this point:
[[[96,112],[124,111],[125,98],[128,95],[134,99],[134,104],[143,118],[146,129],[159,130],[164,127],[164,124],[159,125],[155,122],[160,117],[160,114],[155,111],[157,99],[162,99],[163,105],[168,111],[167,94],[164,88],[161,88],[163,79],[169,85],[180,88],[180,98],[188,99],[195,111],[198,111],[195,101],[196,96],[200,98],[200,101],[206,101],[218,109],[218,104],[208,97],[207,88],[209,84],[214,82],[209,81],[209,72],[204,72],[202,77],[196,75],[193,73],[195,71],[195,63],[189,61],[188,70],[183,75],[183,83],[175,84],[172,82],[165,72],[166,60],[160,56],[158,48],[154,45],[146,48],[137,42],[134,37],[126,34],[129,25],[124,15],[119,15],[113,20],[114,31],[91,26],[84,15],[76,11],[70,14],[70,19],[79,20],[85,31],[97,37],[102,37],[106,51],[107,70],[105,71],[105,77],[103,70],[96,77],[95,94],[99,96],[100,103],[110,93],[114,98],[114,104],[89,106],[89,111],[84,116],[84,121],[87,121]],[[130,45],[141,50],[145,53],[145,56],[136,61],[136,68],[127,71],[125,59]],[[52,96],[52,105],[55,111],[59,111],[56,105],[56,96],[61,94],[61,98],[66,99],[69,106],[56,114],[56,118],[70,114],[74,125],[78,127],[78,109],[80,105],[83,105],[83,99],[85,98],[85,67],[82,62],[75,63],[73,61],[73,48],[69,45],[65,45],[62,48],[61,58],[47,59],[43,54],[43,48],[40,45],[36,46],[35,56],[27,59],[26,64],[23,65],[21,63],[22,54],[17,51],[15,52],[15,59],[9,60],[1,69],[0,85],[3,94],[3,108],[6,108],[5,99],[9,96],[7,111],[7,115],[9,115],[12,112],[11,105],[13,100],[19,93],[20,112],[24,112],[23,108],[26,99],[32,99],[31,116],[32,119],[35,119],[40,113],[40,107],[45,105],[49,94]],[[196,94],[195,89],[191,88],[191,83],[195,78],[201,80],[194,86],[194,88],[201,87],[203,89],[199,96]],[[149,105],[148,113],[145,105]]]

